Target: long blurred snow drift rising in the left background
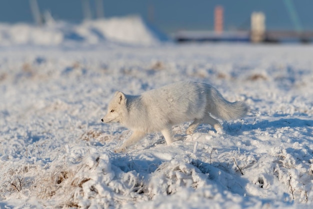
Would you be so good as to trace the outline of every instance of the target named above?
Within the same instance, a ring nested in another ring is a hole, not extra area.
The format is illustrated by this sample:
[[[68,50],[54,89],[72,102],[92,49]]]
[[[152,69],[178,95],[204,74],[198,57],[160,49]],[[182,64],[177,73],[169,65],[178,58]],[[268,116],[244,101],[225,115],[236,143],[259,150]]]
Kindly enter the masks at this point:
[[[0,46],[55,46],[65,43],[98,44],[115,42],[153,45],[165,36],[138,16],[85,21],[81,24],[49,21],[44,26],[0,24]]]

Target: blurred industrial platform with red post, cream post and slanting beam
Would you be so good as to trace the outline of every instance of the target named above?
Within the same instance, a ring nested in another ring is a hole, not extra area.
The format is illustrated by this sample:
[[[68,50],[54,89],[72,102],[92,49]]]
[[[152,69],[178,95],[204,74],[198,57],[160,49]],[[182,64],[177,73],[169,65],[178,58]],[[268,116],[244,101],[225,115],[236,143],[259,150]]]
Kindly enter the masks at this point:
[[[291,0],[284,5],[294,26],[293,31],[266,31],[265,14],[252,12],[249,31],[223,31],[223,8],[214,9],[214,31],[179,31],[174,35],[177,42],[302,42],[313,41],[313,32],[303,31],[300,20]]]

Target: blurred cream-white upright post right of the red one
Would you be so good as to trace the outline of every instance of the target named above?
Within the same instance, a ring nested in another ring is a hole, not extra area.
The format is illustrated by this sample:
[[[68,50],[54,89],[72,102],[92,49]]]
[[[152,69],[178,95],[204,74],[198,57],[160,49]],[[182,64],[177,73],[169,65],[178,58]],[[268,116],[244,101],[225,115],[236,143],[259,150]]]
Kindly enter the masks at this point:
[[[262,42],[265,38],[265,15],[262,12],[251,14],[251,41]]]

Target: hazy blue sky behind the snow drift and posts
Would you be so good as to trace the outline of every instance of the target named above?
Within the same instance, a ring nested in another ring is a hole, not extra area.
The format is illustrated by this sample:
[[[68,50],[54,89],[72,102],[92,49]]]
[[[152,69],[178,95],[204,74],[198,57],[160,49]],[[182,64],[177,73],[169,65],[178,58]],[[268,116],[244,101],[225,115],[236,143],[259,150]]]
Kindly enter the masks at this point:
[[[290,1],[290,0],[288,0]],[[81,0],[37,0],[40,11],[50,11],[56,20],[80,22],[83,19]],[[292,0],[291,0],[292,2]],[[172,33],[177,30],[211,30],[213,9],[224,8],[224,29],[248,29],[249,17],[253,11],[266,15],[269,30],[294,30],[283,0],[104,0],[104,16],[125,16],[137,14],[148,20],[148,10],[153,7],[153,24],[161,31]],[[304,30],[313,30],[313,1],[293,0],[294,8]],[[94,15],[94,0],[90,0]],[[95,16],[95,15],[94,15]],[[32,23],[27,0],[0,0],[0,22]]]

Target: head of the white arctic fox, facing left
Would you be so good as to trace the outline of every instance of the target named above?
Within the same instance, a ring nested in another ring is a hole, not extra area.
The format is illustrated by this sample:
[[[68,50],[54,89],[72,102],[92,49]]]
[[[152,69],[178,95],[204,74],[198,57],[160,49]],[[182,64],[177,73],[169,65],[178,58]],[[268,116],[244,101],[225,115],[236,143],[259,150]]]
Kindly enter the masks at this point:
[[[116,91],[112,100],[108,104],[107,113],[101,119],[104,123],[121,122],[122,115],[127,111],[127,98],[122,92]]]

